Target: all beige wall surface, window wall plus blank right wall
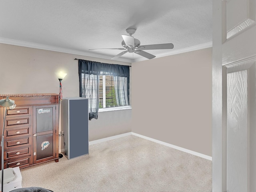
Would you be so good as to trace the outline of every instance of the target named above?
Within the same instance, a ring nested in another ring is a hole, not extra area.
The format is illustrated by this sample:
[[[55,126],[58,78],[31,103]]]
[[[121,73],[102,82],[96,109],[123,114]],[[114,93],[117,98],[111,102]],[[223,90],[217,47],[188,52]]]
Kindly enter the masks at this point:
[[[79,96],[78,61],[74,58],[130,65],[0,44],[0,94],[58,93],[55,72],[62,71],[67,73],[62,81],[63,97]],[[89,140],[132,131],[212,156],[211,67],[211,48],[133,63],[132,110],[100,112],[98,120],[89,121]],[[154,74],[157,69],[162,70]]]

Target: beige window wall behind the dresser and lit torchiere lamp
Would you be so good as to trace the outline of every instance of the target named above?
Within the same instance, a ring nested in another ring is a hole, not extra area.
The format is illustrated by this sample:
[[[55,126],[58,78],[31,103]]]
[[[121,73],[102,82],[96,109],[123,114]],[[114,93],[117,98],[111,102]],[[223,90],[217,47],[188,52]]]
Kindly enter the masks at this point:
[[[88,56],[0,44],[0,94],[58,93],[55,72],[66,72],[63,97],[79,97],[78,61],[74,58],[130,65]],[[6,72],[9,71],[9,72]],[[89,121],[89,140],[131,132],[131,110],[100,112]]]

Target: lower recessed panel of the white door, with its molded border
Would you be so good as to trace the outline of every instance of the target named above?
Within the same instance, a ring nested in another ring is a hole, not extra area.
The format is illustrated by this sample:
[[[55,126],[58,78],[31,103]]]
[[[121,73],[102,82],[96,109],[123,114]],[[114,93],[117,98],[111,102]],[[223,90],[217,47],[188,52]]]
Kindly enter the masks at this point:
[[[256,64],[245,62],[226,71],[226,191],[254,192]]]

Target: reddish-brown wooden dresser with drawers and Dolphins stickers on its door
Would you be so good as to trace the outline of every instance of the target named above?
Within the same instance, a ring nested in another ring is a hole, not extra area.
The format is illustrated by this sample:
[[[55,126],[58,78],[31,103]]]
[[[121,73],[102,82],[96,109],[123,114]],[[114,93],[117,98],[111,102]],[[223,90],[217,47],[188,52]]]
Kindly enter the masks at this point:
[[[6,96],[14,100],[16,108],[7,107],[4,168],[58,162],[59,94],[0,94],[0,99]],[[1,107],[1,134],[4,112]]]

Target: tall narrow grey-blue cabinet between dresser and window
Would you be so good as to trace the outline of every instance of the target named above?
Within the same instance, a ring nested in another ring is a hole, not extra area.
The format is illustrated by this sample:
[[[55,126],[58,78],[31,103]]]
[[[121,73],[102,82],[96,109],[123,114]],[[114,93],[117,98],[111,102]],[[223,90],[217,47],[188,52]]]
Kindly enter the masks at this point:
[[[88,154],[88,99],[63,98],[60,104],[62,153],[68,160]]]

